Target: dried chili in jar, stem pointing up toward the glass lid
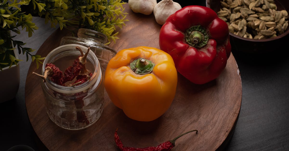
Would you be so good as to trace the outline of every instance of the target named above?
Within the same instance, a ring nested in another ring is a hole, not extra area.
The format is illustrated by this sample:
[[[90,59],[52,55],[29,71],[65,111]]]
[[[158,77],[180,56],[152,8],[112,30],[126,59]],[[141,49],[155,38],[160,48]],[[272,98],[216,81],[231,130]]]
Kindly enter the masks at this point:
[[[77,49],[77,47],[76,47],[76,49]],[[62,83],[66,83],[68,81],[72,81],[76,76],[79,75],[81,69],[86,64],[86,57],[88,55],[89,50],[90,50],[90,47],[88,47],[87,52],[83,56],[78,56],[78,58],[74,60],[73,65],[68,67],[64,71],[64,76],[63,76]]]

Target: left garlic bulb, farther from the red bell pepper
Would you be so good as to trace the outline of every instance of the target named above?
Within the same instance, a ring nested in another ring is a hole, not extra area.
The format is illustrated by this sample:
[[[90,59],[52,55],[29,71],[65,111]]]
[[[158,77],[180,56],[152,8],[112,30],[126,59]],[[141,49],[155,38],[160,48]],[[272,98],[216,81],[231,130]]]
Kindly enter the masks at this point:
[[[157,0],[128,0],[128,5],[132,11],[145,15],[151,14],[156,4]]]

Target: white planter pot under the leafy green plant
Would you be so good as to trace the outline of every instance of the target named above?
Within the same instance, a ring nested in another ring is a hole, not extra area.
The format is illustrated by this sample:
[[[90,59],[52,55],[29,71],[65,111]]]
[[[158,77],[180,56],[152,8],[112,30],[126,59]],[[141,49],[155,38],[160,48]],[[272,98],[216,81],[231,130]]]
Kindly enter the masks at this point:
[[[15,58],[18,59],[17,50],[14,49]],[[5,67],[0,71],[0,103],[13,99],[19,89],[20,68],[12,65],[11,68]]]

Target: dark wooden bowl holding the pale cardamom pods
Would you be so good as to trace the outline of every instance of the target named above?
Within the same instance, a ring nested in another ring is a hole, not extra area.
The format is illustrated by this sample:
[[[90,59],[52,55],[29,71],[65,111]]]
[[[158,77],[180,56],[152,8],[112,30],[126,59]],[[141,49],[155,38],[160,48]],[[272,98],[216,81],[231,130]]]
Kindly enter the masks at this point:
[[[220,1],[221,0],[206,0],[206,6],[215,12],[218,12],[222,8]],[[275,0],[275,4],[277,10],[286,10],[289,12],[288,0]],[[231,32],[229,33],[232,51],[243,51],[247,53],[268,53],[271,51],[277,51],[277,49],[281,49],[284,44],[289,42],[288,34],[289,27],[283,34],[267,39],[243,38]]]

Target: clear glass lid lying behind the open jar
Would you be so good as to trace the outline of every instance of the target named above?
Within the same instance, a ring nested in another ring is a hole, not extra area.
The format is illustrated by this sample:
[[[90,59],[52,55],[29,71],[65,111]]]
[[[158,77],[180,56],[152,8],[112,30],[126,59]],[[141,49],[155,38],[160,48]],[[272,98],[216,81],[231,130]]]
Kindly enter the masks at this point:
[[[107,36],[95,30],[80,28],[77,32],[78,37],[65,36],[61,39],[60,45],[78,44],[90,47],[99,59],[100,65],[105,71],[109,60],[116,55],[116,51],[105,45]]]

